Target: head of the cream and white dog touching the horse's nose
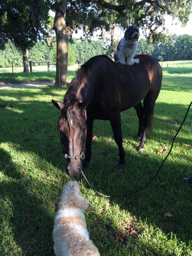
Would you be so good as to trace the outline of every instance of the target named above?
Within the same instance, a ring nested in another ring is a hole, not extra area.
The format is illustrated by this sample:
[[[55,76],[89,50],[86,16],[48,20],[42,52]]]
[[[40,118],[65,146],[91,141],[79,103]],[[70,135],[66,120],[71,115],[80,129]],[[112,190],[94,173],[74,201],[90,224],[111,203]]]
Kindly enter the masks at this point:
[[[65,184],[63,194],[59,202],[59,210],[68,205],[85,211],[88,209],[89,204],[90,202],[81,195],[81,190],[77,181],[70,180]]]

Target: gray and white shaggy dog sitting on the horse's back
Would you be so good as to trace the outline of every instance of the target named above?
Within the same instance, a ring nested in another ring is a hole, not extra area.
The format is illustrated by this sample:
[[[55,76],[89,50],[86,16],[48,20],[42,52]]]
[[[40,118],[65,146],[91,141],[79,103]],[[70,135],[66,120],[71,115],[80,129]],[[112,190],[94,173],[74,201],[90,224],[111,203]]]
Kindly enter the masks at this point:
[[[134,63],[139,63],[139,59],[133,59],[137,51],[137,41],[139,39],[139,28],[136,26],[129,26],[120,40],[117,49],[114,53],[115,62],[127,64],[129,66]]]

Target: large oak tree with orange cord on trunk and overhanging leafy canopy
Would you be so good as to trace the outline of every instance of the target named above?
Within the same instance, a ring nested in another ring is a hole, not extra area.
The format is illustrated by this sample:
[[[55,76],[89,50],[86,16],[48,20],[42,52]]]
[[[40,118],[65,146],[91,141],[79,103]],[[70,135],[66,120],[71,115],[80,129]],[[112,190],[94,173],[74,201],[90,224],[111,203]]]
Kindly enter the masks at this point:
[[[190,0],[47,0],[46,2],[55,11],[56,84],[61,86],[66,86],[68,82],[68,40],[71,34],[81,26],[89,33],[92,33],[94,28],[109,29],[110,24],[106,20],[105,12],[102,12],[103,8],[115,11],[124,28],[132,21],[145,31],[149,30],[148,38],[154,42],[162,36],[162,33],[157,33],[157,28],[164,27],[164,14],[179,18],[185,25],[191,13]],[[110,20],[114,25],[113,21],[115,20]]]

